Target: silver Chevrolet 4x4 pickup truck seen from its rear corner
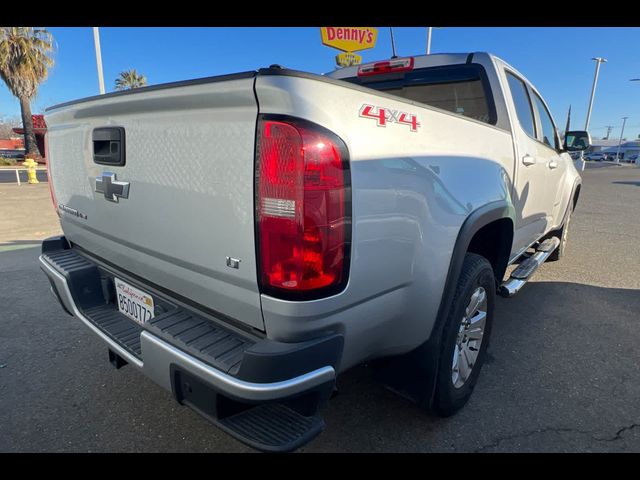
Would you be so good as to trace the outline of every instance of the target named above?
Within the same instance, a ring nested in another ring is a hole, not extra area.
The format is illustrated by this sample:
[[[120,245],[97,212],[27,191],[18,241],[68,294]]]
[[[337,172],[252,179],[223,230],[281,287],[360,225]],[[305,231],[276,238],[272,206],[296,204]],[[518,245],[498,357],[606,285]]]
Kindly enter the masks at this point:
[[[363,362],[460,409],[495,296],[562,256],[581,186],[540,93],[487,53],[273,65],[46,122],[64,236],[40,262],[64,310],[114,366],[268,451],[319,434]]]

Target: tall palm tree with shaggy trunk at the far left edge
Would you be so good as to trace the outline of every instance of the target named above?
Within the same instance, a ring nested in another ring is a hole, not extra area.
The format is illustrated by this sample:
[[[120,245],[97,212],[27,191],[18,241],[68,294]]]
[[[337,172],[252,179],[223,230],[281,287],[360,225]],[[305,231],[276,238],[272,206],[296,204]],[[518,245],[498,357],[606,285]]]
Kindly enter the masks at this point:
[[[0,78],[20,101],[25,153],[39,158],[31,100],[53,66],[53,37],[43,28],[0,27]]]

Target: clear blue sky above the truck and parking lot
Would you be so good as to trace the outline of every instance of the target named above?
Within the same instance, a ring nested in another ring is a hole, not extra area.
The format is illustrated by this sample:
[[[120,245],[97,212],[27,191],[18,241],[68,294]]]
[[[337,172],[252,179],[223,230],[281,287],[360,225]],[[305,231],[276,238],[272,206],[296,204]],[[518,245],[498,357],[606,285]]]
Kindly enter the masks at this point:
[[[379,27],[378,42],[360,52],[363,61],[388,58],[388,28]],[[90,27],[51,27],[57,42],[56,64],[33,104],[41,112],[53,104],[98,93],[93,34]],[[398,55],[424,53],[426,30],[395,27]],[[107,28],[100,29],[104,77],[113,90],[120,71],[136,68],[150,84],[234,73],[279,63],[323,73],[334,68],[338,53],[320,42],[317,27],[290,28]],[[447,27],[434,29],[432,53],[488,51],[512,64],[542,92],[560,129],[569,105],[572,127],[582,128],[593,81],[592,57],[607,58],[591,118],[596,138],[629,116],[626,138],[640,134],[640,28]],[[18,115],[17,100],[0,82],[0,116]]]

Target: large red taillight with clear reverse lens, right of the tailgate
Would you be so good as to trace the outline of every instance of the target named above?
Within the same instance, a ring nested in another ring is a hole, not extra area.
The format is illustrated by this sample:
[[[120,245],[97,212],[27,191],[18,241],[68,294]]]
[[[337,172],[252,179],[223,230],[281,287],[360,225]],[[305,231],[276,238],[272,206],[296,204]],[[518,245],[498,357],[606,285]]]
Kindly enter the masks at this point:
[[[347,280],[351,239],[344,143],[308,122],[261,119],[256,209],[263,291],[312,298]]]

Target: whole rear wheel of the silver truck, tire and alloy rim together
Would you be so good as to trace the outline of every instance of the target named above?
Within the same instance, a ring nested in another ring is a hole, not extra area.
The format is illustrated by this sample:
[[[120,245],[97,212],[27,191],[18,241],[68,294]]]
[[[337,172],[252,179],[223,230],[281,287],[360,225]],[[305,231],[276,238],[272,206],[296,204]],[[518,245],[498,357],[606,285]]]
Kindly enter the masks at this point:
[[[467,253],[442,333],[433,403],[440,416],[453,415],[473,393],[489,343],[495,295],[491,264]]]

